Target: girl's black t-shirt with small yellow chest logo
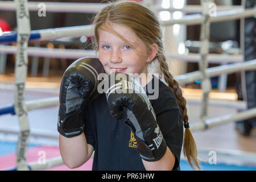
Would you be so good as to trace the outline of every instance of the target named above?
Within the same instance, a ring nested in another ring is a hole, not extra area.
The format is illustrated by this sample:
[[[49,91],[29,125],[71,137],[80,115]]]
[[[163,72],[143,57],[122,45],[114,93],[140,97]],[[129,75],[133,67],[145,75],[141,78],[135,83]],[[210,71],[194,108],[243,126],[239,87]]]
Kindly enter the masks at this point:
[[[147,96],[148,88],[154,90],[154,76],[144,87]],[[183,117],[176,98],[162,81],[159,82],[159,96],[150,100],[156,114],[156,120],[166,140],[167,146],[175,155],[173,170],[180,170],[180,153],[183,144]],[[156,82],[157,83],[157,82]],[[154,93],[151,93],[151,95]],[[137,142],[133,132],[125,125],[126,112],[120,120],[114,119],[104,93],[90,101],[86,115],[85,137],[87,143],[94,147],[93,170],[145,170],[137,151]]]

